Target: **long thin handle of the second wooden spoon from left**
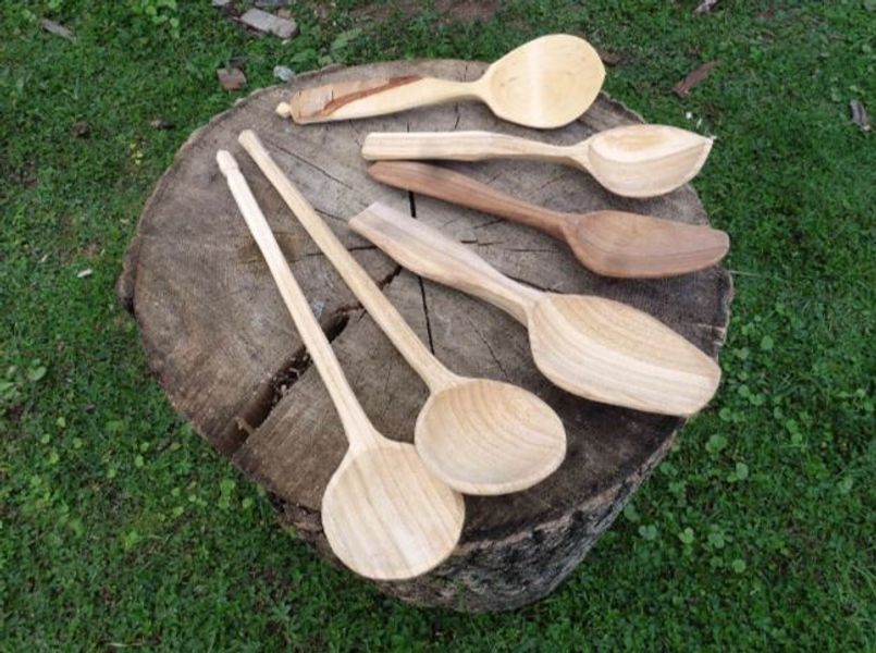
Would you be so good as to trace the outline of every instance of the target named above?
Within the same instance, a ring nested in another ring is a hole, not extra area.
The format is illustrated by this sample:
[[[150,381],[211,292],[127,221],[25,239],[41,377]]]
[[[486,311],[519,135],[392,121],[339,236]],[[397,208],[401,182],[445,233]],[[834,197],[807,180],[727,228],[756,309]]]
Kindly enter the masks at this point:
[[[432,355],[422,341],[405,321],[405,318],[386,299],[378,285],[362,267],[353,258],[347,248],[337,239],[325,221],[310,206],[288,177],[264,149],[259,137],[251,130],[240,132],[237,140],[252,157],[270,182],[285,200],[292,212],[313,238],[317,246],[335,267],[353,294],[362,303],[378,325],[383,330],[405,360],[410,364],[433,392],[446,386],[455,379],[447,368]]]

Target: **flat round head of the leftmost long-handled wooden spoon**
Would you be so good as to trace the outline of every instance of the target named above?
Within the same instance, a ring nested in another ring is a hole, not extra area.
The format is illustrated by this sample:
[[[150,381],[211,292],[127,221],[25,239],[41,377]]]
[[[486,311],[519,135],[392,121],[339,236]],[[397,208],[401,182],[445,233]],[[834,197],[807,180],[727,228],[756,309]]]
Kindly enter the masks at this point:
[[[465,520],[462,497],[414,446],[385,442],[347,454],[322,497],[322,526],[350,569],[375,580],[423,574],[447,558]]]

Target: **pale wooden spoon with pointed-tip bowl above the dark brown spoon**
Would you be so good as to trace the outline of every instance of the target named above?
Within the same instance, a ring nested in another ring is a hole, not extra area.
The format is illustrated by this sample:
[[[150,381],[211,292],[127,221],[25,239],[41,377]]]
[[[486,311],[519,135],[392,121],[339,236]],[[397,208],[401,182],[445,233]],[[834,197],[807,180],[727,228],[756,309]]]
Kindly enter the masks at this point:
[[[369,134],[369,160],[535,159],[582,169],[616,195],[654,197],[683,186],[703,168],[712,138],[667,125],[629,125],[560,146],[492,132]]]

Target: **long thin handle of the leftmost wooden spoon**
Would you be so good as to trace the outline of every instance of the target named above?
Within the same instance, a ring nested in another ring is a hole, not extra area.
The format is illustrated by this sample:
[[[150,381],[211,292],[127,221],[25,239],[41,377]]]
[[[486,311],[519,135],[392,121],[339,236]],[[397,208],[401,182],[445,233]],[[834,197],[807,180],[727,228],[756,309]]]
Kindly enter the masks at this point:
[[[234,196],[244,220],[249,227],[252,237],[256,239],[262,256],[264,257],[271,275],[276,282],[276,287],[286,304],[295,328],[301,337],[301,342],[307,347],[317,371],[322,378],[322,382],[329,390],[329,394],[334,402],[341,422],[349,440],[350,448],[365,448],[378,444],[377,432],[371,427],[368,416],[362,410],[353,389],[341,369],[341,364],[329,344],[322,329],[313,316],[307,298],[301,292],[298,282],[292,274],[286,258],[274,238],[264,214],[261,212],[249,185],[246,183],[237,161],[225,150],[219,150],[215,156],[219,169],[229,183],[229,188]]]

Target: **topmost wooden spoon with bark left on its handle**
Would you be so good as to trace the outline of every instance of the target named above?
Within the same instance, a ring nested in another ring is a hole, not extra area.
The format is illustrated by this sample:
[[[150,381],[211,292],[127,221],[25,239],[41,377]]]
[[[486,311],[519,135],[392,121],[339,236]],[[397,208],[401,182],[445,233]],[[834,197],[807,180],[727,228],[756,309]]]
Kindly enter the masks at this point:
[[[456,100],[482,100],[503,120],[560,127],[587,111],[605,77],[600,56],[584,39],[542,36],[505,54],[480,79],[451,82],[407,75],[305,88],[276,112],[297,123],[383,115]]]

